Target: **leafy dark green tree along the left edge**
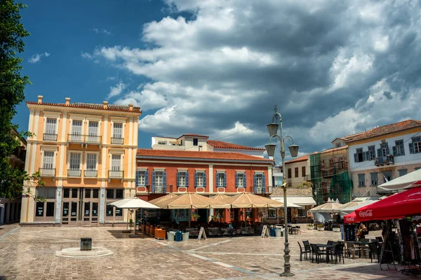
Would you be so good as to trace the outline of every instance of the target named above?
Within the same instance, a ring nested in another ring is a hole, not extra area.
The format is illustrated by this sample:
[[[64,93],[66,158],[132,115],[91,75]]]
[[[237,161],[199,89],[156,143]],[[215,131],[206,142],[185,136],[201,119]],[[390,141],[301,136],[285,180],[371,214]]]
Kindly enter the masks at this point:
[[[20,23],[20,9],[26,8],[22,3],[13,0],[0,0],[0,197],[13,199],[21,196],[23,182],[28,179],[39,180],[39,174],[28,175],[25,171],[13,169],[9,157],[20,145],[20,137],[31,136],[23,132],[20,137],[11,133],[18,130],[12,123],[16,113],[16,105],[25,99],[25,85],[30,83],[27,76],[20,71],[22,58],[17,52],[23,52],[23,38],[29,36]]]

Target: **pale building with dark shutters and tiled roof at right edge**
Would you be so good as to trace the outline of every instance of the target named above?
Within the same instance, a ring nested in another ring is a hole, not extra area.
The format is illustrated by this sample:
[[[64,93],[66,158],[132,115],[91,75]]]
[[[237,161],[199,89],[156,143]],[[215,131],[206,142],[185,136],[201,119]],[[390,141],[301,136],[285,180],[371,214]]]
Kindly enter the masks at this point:
[[[378,195],[377,186],[421,168],[421,121],[375,127],[349,146],[354,197]]]

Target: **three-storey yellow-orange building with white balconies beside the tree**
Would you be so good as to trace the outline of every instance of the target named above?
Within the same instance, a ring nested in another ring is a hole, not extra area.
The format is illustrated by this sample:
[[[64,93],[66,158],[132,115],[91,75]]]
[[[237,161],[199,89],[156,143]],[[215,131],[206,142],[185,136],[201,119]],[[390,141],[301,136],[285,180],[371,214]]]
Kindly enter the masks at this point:
[[[25,182],[44,197],[22,198],[20,223],[99,225],[126,223],[127,213],[107,206],[135,196],[138,122],[133,104],[27,102],[29,132],[25,170],[41,173],[45,186]]]

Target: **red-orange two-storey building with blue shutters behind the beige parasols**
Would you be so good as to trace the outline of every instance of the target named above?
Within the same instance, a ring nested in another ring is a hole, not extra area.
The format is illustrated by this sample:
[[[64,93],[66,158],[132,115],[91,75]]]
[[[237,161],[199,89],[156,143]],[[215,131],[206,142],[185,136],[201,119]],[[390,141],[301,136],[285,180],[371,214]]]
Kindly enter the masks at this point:
[[[273,166],[272,160],[243,153],[138,149],[136,195],[147,201],[168,193],[187,192],[209,197],[242,192],[269,196]],[[172,219],[187,221],[187,210],[172,212]],[[258,209],[220,212],[220,218],[227,223],[259,221]],[[202,221],[213,215],[207,209],[198,209],[197,213]]]

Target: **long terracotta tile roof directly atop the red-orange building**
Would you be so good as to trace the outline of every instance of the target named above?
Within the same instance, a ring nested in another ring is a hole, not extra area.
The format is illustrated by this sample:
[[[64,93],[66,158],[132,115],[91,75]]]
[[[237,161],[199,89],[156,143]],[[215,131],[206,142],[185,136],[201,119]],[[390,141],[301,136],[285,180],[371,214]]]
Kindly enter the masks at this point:
[[[273,163],[273,160],[270,160],[269,158],[259,158],[254,155],[246,155],[243,153],[138,149],[137,155],[156,158],[196,158],[206,160],[242,160],[246,162],[258,161]]]

